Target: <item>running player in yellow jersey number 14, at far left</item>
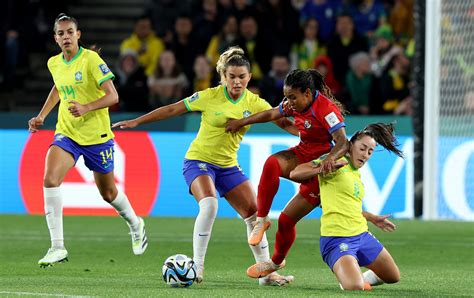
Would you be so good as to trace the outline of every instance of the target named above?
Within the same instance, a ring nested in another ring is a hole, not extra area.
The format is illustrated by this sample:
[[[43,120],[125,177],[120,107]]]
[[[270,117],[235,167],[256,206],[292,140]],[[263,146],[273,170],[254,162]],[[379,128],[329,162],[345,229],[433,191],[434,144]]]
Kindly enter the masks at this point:
[[[42,267],[66,261],[60,185],[82,155],[94,172],[102,198],[125,219],[136,255],[145,252],[148,242],[143,219],[137,217],[127,196],[117,189],[114,179],[114,134],[108,107],[118,102],[113,73],[99,55],[79,46],[81,31],[75,18],[60,14],[54,22],[54,39],[61,53],[48,61],[54,85],[40,113],[28,121],[34,133],[59,102],[54,141],[46,156],[44,208],[51,236],[51,248],[39,260]]]

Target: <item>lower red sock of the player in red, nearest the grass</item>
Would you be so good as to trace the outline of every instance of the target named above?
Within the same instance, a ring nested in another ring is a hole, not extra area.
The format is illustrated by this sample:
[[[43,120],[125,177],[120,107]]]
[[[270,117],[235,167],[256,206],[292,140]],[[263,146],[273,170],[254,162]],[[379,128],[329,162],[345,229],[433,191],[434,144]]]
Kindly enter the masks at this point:
[[[286,258],[293,242],[296,239],[296,222],[286,215],[280,214],[278,218],[278,231],[275,239],[275,251],[273,252],[272,261],[275,264],[281,264]]]

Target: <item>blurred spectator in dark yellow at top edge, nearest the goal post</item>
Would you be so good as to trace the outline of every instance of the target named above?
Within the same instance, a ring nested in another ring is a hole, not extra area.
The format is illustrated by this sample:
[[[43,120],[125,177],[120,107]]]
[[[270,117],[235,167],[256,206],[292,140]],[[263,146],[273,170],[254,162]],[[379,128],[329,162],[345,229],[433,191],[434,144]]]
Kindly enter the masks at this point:
[[[415,31],[413,2],[414,0],[395,0],[388,19],[395,37],[403,46],[413,37]]]

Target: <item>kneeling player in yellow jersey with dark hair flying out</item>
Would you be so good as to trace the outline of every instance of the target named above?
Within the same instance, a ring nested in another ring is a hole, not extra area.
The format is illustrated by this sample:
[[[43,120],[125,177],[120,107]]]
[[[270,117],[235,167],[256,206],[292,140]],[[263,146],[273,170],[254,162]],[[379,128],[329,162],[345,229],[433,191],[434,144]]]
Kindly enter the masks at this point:
[[[319,175],[323,260],[336,275],[342,289],[368,290],[384,282],[398,282],[400,271],[387,249],[368,231],[367,220],[361,212],[364,185],[359,168],[367,163],[377,144],[400,157],[403,154],[396,147],[393,126],[383,123],[370,124],[356,132],[349,143],[348,154],[339,161],[345,165],[337,171],[321,175],[321,158],[299,165],[291,172],[291,177],[299,180]],[[377,226],[393,231],[395,225],[386,218]],[[369,270],[362,273],[360,267]]]

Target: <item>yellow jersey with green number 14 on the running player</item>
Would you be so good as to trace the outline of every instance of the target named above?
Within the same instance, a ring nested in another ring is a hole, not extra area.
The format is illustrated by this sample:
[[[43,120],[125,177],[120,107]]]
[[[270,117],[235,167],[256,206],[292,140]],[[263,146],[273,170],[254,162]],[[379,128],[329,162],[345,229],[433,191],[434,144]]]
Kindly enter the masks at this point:
[[[60,99],[55,133],[63,134],[79,145],[102,144],[112,139],[108,108],[80,117],[74,117],[68,111],[71,100],[88,104],[105,95],[100,85],[115,76],[104,60],[96,52],[80,47],[70,61],[64,60],[62,53],[51,57],[48,69]]]

